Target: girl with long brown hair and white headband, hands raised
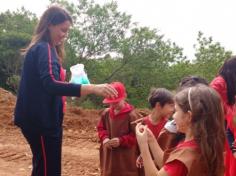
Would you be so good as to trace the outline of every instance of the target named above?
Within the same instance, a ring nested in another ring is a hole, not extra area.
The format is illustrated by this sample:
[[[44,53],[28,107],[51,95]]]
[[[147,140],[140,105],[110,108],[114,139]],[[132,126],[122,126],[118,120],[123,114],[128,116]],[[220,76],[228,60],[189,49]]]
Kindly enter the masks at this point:
[[[173,119],[185,139],[165,152],[147,126],[136,126],[146,176],[222,176],[225,131],[218,94],[204,85],[183,89],[175,96]]]

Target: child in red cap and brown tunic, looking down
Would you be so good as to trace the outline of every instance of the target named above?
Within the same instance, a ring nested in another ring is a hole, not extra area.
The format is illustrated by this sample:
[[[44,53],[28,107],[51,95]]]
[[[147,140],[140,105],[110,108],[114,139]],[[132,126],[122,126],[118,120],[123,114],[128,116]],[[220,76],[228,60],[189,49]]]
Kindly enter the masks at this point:
[[[98,123],[100,167],[102,176],[137,176],[135,165],[138,156],[134,126],[131,121],[138,118],[133,106],[125,101],[126,90],[122,83],[110,84],[118,92],[117,98],[105,98],[110,107],[102,112]]]

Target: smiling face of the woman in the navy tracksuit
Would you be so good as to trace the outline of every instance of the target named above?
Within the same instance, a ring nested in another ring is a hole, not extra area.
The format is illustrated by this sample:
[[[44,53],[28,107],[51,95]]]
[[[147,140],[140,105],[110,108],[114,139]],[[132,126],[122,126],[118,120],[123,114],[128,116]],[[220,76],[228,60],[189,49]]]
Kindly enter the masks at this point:
[[[50,37],[52,40],[52,44],[54,46],[57,46],[63,43],[63,41],[68,35],[70,26],[71,26],[70,21],[64,21],[61,24],[49,26]]]

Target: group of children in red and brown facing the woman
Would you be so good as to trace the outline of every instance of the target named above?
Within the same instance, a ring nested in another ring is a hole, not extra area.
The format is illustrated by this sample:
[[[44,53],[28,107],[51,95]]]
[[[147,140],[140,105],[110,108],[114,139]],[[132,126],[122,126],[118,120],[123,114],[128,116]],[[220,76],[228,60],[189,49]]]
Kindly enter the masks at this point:
[[[230,155],[225,142],[226,105],[222,108],[222,96],[214,80],[208,86],[203,78],[185,77],[175,96],[165,88],[151,90],[148,97],[151,112],[144,117],[125,101],[122,83],[111,85],[118,97],[104,99],[109,108],[101,113],[97,126],[102,176],[236,173],[232,166],[229,171],[233,159],[229,161],[230,157],[224,156],[225,151]]]

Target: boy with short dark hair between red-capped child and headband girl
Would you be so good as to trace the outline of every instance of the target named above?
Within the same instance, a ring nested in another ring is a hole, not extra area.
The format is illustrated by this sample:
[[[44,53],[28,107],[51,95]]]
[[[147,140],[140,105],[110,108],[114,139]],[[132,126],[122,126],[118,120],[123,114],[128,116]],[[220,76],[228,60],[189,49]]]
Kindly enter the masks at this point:
[[[174,112],[174,99],[172,93],[165,88],[151,90],[148,102],[152,108],[151,114],[143,118],[142,123],[152,131],[161,148],[166,149],[166,140],[159,138],[159,134],[166,124],[168,118]],[[141,168],[142,158],[138,157],[137,167]]]

